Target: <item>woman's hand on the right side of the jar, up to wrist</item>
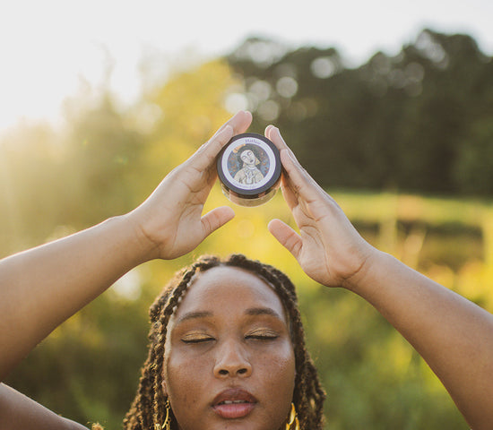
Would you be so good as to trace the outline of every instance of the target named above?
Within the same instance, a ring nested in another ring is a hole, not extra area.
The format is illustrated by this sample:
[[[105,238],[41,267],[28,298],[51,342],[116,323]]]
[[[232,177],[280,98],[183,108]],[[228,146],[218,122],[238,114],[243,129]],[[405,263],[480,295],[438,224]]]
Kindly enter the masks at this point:
[[[279,129],[269,125],[265,135],[281,151],[282,195],[299,233],[279,219],[269,223],[269,230],[310,278],[327,287],[350,288],[376,249],[359,236],[340,206],[301,167]]]

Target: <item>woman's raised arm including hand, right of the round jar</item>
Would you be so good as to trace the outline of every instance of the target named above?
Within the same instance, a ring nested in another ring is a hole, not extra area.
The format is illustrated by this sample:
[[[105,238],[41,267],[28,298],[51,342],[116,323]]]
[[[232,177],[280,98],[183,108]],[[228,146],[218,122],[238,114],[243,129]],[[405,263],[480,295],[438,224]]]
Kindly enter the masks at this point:
[[[416,348],[472,428],[493,422],[493,315],[369,245],[341,208],[301,168],[279,130],[282,193],[299,233],[269,229],[312,279],[365,298]]]

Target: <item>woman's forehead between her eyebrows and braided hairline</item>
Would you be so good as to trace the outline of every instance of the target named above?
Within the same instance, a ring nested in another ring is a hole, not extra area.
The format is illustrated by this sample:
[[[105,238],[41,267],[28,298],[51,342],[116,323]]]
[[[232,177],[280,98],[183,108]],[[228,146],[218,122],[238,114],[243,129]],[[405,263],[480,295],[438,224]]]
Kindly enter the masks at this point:
[[[266,307],[286,320],[284,306],[272,286],[250,271],[214,267],[197,275],[177,308],[175,316],[190,312],[245,314]]]

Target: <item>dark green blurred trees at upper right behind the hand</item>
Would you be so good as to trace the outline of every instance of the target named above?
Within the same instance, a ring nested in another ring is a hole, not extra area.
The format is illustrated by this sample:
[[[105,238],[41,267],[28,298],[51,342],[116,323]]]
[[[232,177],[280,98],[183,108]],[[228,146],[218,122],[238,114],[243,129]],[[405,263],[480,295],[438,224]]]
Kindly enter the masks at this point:
[[[491,195],[493,62],[471,37],[423,30],[352,69],[267,39],[228,59],[259,128],[279,125],[321,185]]]

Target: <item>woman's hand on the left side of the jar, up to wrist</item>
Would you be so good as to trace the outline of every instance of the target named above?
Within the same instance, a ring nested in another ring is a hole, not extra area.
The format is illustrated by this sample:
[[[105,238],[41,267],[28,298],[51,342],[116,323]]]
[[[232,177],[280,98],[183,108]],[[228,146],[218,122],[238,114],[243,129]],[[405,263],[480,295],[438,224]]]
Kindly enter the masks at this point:
[[[234,217],[229,207],[215,208],[202,216],[203,204],[217,177],[216,156],[231,137],[244,133],[251,122],[249,112],[238,112],[128,214],[151,249],[148,259],[184,255]]]

